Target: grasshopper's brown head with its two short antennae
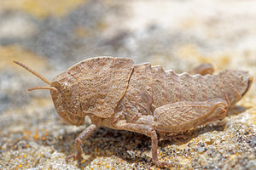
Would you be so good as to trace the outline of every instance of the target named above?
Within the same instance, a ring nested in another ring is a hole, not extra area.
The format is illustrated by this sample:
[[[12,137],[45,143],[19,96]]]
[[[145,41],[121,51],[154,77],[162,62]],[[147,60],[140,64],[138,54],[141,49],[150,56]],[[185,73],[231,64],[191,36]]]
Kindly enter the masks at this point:
[[[29,88],[28,91],[49,89],[59,116],[61,116],[64,121],[73,125],[79,126],[84,124],[84,116],[80,114],[79,85],[73,77],[67,74],[67,72],[64,72],[55,77],[53,82],[49,82],[45,77],[32,71],[32,69],[28,68],[26,65],[17,61],[15,61],[15,63],[49,84],[49,86]]]

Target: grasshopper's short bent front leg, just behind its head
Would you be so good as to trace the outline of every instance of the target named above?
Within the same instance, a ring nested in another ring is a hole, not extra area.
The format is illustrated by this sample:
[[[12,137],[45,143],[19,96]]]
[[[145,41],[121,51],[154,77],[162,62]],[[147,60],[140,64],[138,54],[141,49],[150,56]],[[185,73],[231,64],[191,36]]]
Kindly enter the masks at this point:
[[[66,161],[68,161],[70,158],[74,158],[79,160],[82,156],[83,153],[83,148],[81,144],[83,144],[84,140],[88,139],[90,134],[96,129],[95,124],[91,124],[89,127],[86,127],[82,133],[79,134],[79,136],[76,138],[76,148],[77,148],[77,153],[72,154],[70,156],[66,157]]]

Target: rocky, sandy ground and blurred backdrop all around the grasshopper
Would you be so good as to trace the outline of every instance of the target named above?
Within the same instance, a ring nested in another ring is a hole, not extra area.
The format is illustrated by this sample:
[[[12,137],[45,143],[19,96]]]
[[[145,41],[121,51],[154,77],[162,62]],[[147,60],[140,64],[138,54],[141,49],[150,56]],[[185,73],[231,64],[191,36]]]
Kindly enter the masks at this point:
[[[256,75],[256,1],[0,2],[0,169],[158,169],[150,139],[99,128],[84,142],[82,161],[65,157],[88,126],[57,116],[44,82],[82,59],[130,57],[177,72],[211,62],[217,72]],[[159,140],[160,160],[173,169],[256,169],[256,85],[224,120],[188,139]]]

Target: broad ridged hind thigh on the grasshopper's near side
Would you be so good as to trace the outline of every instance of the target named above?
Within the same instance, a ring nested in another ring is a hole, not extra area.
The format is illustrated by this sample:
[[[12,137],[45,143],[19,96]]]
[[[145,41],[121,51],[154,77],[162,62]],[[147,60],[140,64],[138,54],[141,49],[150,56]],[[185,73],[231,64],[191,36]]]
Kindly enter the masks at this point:
[[[155,129],[171,135],[187,133],[208,122],[223,119],[227,108],[227,102],[219,98],[163,105],[154,110]]]

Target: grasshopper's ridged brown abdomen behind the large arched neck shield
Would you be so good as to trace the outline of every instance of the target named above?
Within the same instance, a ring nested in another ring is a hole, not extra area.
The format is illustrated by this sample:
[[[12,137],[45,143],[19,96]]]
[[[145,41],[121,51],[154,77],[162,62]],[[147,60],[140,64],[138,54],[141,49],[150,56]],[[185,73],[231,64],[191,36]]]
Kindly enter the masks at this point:
[[[201,76],[164,71],[161,66],[135,65],[119,110],[126,118],[152,114],[155,108],[179,101],[207,101],[221,98],[228,105],[236,103],[247,89],[241,76],[244,71],[222,71],[218,75]],[[129,119],[129,118],[128,118]]]

